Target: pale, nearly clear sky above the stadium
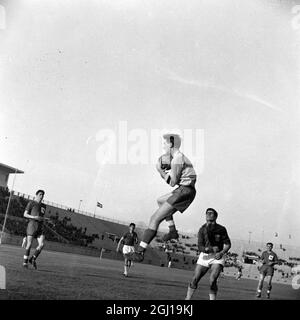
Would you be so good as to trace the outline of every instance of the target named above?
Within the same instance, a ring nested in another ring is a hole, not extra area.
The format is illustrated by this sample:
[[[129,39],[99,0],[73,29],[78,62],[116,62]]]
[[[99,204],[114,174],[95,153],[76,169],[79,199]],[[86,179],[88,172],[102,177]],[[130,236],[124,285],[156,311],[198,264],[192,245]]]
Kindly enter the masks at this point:
[[[197,196],[178,229],[213,207],[233,238],[300,245],[298,1],[0,5],[0,162],[25,171],[15,190],[147,224],[172,190],[152,133],[188,131]]]

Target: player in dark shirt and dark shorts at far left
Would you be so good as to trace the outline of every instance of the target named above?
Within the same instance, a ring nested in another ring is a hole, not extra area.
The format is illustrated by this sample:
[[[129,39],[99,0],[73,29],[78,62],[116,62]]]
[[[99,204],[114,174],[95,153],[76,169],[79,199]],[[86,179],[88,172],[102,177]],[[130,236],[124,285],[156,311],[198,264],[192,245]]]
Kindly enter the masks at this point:
[[[27,239],[26,239],[26,247],[25,247],[25,255],[23,267],[28,268],[28,262],[33,265],[35,269],[37,269],[36,259],[41,253],[44,247],[44,221],[46,218],[44,217],[46,213],[46,205],[42,203],[45,195],[44,190],[38,190],[35,194],[35,199],[33,201],[28,202],[25,212],[24,218],[29,219],[27,225]],[[35,249],[34,254],[30,256],[30,250],[32,246],[33,239],[36,238],[38,241],[38,246]]]

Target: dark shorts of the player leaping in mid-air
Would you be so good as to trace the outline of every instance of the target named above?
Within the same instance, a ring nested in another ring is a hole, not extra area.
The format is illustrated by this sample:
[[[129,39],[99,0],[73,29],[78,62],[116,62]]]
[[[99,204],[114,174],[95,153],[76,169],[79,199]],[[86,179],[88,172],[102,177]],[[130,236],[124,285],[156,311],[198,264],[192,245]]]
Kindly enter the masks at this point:
[[[167,202],[182,213],[193,202],[195,196],[196,189],[194,187],[179,186],[172,192]]]

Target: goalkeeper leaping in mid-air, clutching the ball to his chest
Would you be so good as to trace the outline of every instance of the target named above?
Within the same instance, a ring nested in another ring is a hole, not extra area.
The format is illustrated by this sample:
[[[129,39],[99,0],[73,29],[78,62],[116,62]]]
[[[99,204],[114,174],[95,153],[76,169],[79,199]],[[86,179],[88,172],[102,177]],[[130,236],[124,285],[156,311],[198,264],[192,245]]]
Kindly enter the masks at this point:
[[[177,188],[157,200],[159,208],[151,216],[148,229],[145,230],[138,249],[131,254],[131,259],[137,262],[143,261],[145,250],[155,238],[163,220],[166,220],[169,226],[169,233],[163,237],[163,240],[178,239],[173,215],[176,211],[183,213],[196,196],[196,172],[191,161],[179,150],[180,136],[165,134],[163,141],[165,155],[158,159],[156,169],[167,184]]]

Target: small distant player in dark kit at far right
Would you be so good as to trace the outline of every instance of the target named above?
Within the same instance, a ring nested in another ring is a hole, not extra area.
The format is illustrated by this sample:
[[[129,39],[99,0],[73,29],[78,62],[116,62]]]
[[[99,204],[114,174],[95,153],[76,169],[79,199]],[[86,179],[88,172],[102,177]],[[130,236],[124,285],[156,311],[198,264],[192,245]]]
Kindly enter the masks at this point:
[[[262,253],[260,260],[262,262],[262,266],[259,268],[260,278],[258,281],[256,297],[261,297],[264,280],[267,277],[267,298],[270,299],[270,293],[272,290],[272,278],[274,275],[274,265],[278,263],[277,254],[273,251],[273,243],[267,243],[267,250]]]

